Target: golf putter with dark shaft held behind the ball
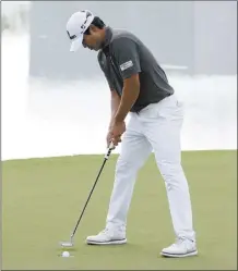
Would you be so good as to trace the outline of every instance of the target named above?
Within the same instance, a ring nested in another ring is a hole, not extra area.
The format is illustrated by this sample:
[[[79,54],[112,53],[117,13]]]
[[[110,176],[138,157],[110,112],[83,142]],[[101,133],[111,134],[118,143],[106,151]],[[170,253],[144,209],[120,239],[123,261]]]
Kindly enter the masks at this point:
[[[102,173],[102,171],[103,171],[103,169],[104,169],[104,165],[105,165],[106,161],[108,160],[108,158],[109,158],[109,156],[110,156],[110,153],[111,153],[111,150],[112,150],[114,148],[115,148],[114,144],[110,143],[109,148],[108,148],[108,150],[107,150],[107,152],[106,152],[106,155],[105,155],[105,157],[104,157],[104,162],[103,162],[103,164],[102,164],[102,167],[100,167],[100,170],[99,170],[99,172],[98,172],[98,174],[97,174],[96,181],[95,181],[95,183],[94,183],[94,185],[93,185],[93,188],[91,189],[90,196],[87,197],[86,204],[84,205],[83,211],[82,211],[82,213],[81,213],[81,215],[80,215],[80,218],[79,218],[79,220],[78,220],[78,222],[76,222],[76,225],[75,225],[75,227],[74,227],[74,230],[73,230],[73,233],[70,235],[70,241],[69,241],[69,242],[60,242],[60,245],[61,245],[62,247],[69,247],[69,248],[70,248],[70,247],[73,247],[73,238],[74,238],[74,235],[75,235],[75,233],[76,233],[76,229],[78,229],[78,226],[79,226],[79,224],[80,224],[80,221],[81,221],[81,219],[82,219],[82,217],[83,217],[83,213],[84,213],[84,211],[85,211],[85,209],[86,209],[86,206],[87,206],[87,204],[88,204],[88,201],[90,201],[90,198],[91,198],[91,196],[92,196],[92,194],[93,194],[93,192],[94,192],[94,188],[95,188],[95,186],[96,186],[96,184],[97,184],[97,181],[98,181],[98,178],[99,178],[99,176],[100,176],[100,173]]]

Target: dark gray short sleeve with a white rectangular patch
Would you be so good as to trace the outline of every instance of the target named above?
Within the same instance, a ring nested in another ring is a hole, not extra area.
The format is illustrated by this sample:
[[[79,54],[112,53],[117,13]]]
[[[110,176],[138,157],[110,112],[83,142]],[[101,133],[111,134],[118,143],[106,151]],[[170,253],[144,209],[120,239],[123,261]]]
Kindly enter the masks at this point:
[[[123,79],[141,72],[139,49],[134,40],[126,37],[116,39],[112,53]]]

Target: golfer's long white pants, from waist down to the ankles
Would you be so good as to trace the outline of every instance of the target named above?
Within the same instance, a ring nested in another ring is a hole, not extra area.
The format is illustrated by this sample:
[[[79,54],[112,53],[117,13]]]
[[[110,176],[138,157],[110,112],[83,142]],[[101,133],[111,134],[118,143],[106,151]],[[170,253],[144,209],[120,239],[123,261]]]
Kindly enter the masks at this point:
[[[195,239],[189,187],[180,163],[183,121],[181,102],[172,95],[150,104],[139,114],[130,114],[116,165],[107,227],[126,230],[138,171],[154,150],[158,170],[166,184],[175,234],[177,237]]]

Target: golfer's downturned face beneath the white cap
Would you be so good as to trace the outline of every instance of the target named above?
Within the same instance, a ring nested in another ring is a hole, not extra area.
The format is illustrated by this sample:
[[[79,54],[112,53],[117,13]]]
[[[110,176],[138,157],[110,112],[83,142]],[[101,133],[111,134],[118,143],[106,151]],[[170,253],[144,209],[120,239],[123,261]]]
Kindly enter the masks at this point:
[[[98,51],[102,47],[100,29],[98,29],[95,26],[91,26],[88,32],[90,35],[86,34],[83,35],[83,42],[82,42],[83,47]]]

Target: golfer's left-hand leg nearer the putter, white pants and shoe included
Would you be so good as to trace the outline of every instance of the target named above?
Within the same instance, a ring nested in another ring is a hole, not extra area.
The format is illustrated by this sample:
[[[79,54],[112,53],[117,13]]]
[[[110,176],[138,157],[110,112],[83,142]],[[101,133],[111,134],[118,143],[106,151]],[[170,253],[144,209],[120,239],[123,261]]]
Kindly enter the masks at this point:
[[[87,244],[124,244],[127,215],[131,204],[134,183],[139,169],[145,163],[152,147],[142,134],[142,126],[135,113],[121,143],[121,152],[117,161],[114,189],[110,197],[106,229],[98,235],[88,236]]]

